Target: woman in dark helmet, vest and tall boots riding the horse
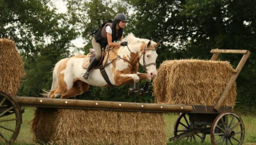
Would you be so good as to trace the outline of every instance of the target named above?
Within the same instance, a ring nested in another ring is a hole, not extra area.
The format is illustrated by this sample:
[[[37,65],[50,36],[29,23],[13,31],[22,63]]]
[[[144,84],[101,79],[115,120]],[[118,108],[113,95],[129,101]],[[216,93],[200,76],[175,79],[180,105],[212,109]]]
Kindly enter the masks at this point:
[[[105,48],[108,44],[110,47],[127,46],[127,42],[114,43],[115,40],[122,40],[123,28],[126,25],[127,18],[125,14],[116,14],[114,22],[107,22],[97,30],[95,37],[92,39],[93,49],[95,50],[96,57],[90,62],[86,73],[83,75],[84,79],[89,78],[90,71],[96,64],[99,63],[102,55],[102,48]]]

